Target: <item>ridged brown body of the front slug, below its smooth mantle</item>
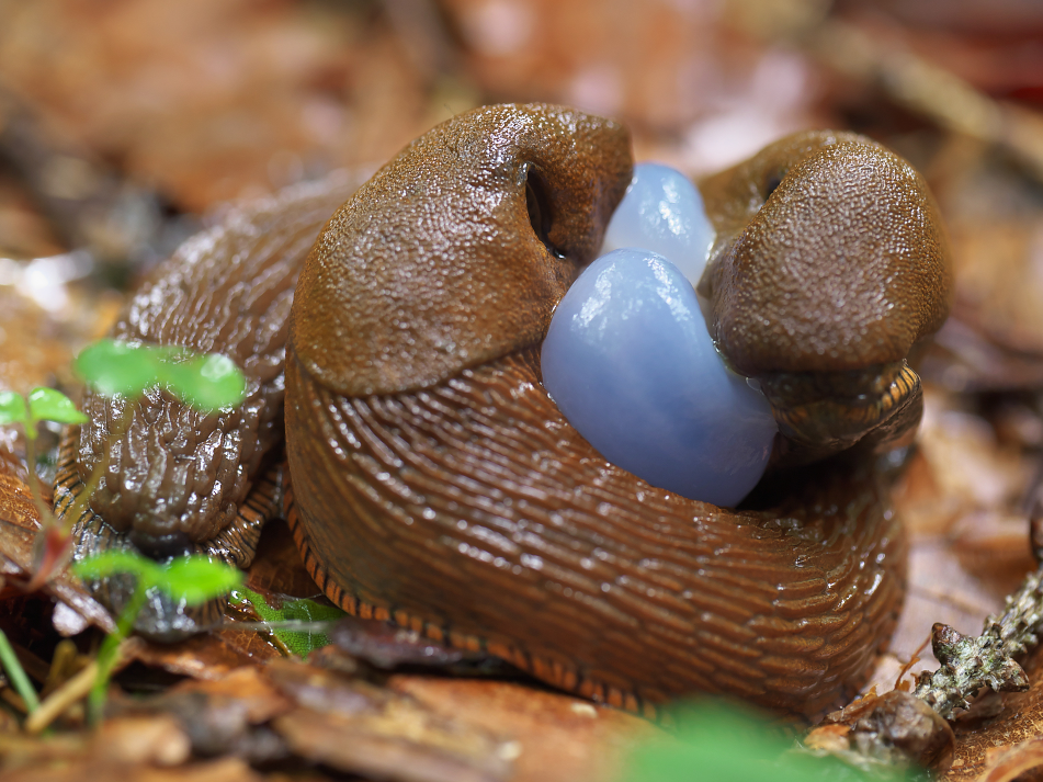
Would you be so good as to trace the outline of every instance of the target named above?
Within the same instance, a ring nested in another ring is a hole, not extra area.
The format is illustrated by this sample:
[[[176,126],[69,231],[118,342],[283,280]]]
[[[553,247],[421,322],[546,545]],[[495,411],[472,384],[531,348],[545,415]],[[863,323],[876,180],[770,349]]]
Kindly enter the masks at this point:
[[[537,355],[361,398],[288,361],[290,520],[326,594],[649,714],[696,691],[814,713],[858,682],[905,591],[870,471],[764,512],[683,499],[605,462]]]

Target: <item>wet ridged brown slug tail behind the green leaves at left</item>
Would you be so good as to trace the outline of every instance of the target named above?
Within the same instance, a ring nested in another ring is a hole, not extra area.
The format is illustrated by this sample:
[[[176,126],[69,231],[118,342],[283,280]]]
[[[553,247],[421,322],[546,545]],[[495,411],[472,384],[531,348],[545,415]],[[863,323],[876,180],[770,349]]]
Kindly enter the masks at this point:
[[[90,392],[77,460],[86,481],[110,449],[93,511],[150,553],[215,539],[238,513],[261,458],[283,439],[286,321],[304,257],[350,183],[297,189],[185,242],[136,292],[111,336],[233,358],[247,375],[238,409],[204,416],[159,389],[135,406],[110,449],[125,400]]]

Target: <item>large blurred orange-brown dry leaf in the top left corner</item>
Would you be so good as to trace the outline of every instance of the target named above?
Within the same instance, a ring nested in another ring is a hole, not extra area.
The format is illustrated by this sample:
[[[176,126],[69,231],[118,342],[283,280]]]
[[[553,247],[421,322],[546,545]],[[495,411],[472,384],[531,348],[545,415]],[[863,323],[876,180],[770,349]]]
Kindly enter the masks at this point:
[[[196,212],[386,160],[431,124],[379,15],[288,0],[8,3],[0,86],[59,143]]]

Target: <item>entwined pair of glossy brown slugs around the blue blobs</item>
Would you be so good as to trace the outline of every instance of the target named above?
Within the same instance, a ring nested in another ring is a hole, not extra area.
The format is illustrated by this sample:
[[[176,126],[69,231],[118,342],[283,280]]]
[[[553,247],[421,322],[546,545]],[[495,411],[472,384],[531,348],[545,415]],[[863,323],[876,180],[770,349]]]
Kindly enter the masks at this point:
[[[937,209],[907,163],[851,134],[794,136],[701,183],[718,231],[700,284],[713,333],[784,434],[774,484],[728,510],[605,462],[541,385],[551,314],[631,169],[615,123],[491,106],[422,136],[336,213],[332,195],[284,196],[195,240],[116,335],[228,352],[251,397],[207,420],[159,392],[140,405],[77,555],[137,543],[247,564],[275,501],[262,451],[285,347],[286,515],[348,611],[634,711],[691,691],[828,704],[864,675],[904,593],[873,452],[908,440],[919,384],[905,358],[948,309]],[[81,474],[121,405],[88,407]],[[814,476],[784,468],[859,441]],[[69,438],[59,508],[76,461]],[[125,586],[98,589],[125,600]],[[200,621],[152,609],[139,628],[154,635]]]

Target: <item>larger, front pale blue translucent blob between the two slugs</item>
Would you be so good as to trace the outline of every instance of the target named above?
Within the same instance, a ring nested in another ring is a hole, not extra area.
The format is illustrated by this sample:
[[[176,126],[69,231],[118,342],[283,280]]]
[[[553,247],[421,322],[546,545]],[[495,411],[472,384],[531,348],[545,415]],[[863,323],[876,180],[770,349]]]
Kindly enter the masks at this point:
[[[590,264],[555,310],[542,361],[569,423],[653,486],[735,506],[763,474],[771,408],[724,367],[695,291],[661,256],[616,250]]]

